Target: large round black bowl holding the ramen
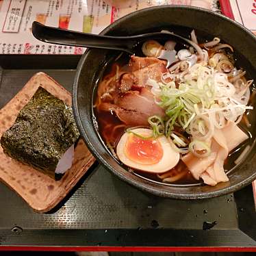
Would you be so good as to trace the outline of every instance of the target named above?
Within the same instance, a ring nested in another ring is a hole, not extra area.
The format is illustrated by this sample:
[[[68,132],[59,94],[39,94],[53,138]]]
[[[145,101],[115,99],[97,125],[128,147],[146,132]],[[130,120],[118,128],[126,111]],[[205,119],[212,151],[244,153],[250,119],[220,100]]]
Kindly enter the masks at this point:
[[[256,78],[256,38],[248,29],[220,14],[215,14],[200,8],[166,5],[148,8],[118,19],[101,34],[112,36],[129,36],[151,31],[169,29],[176,34],[186,36],[192,29],[201,40],[221,38],[235,49],[237,65],[247,71],[248,78]],[[93,98],[97,82],[112,57],[118,55],[115,51],[90,49],[81,57],[73,85],[73,109],[75,120],[81,136],[92,154],[103,166],[123,181],[146,192],[174,199],[204,199],[220,196],[239,190],[256,178],[255,140],[252,140],[251,150],[246,159],[229,172],[229,182],[218,183],[215,187],[209,185],[161,185],[128,172],[116,162],[107,151],[99,134],[97,122],[93,116]],[[255,117],[249,116],[251,132],[255,138]],[[232,138],[230,138],[232,139]]]

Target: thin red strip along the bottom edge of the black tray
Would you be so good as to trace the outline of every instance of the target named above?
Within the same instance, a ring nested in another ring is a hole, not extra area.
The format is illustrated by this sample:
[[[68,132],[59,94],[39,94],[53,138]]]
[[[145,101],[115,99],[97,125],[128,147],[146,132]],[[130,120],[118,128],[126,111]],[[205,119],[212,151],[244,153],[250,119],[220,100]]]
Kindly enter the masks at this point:
[[[256,252],[256,247],[164,246],[0,246],[0,251]]]

